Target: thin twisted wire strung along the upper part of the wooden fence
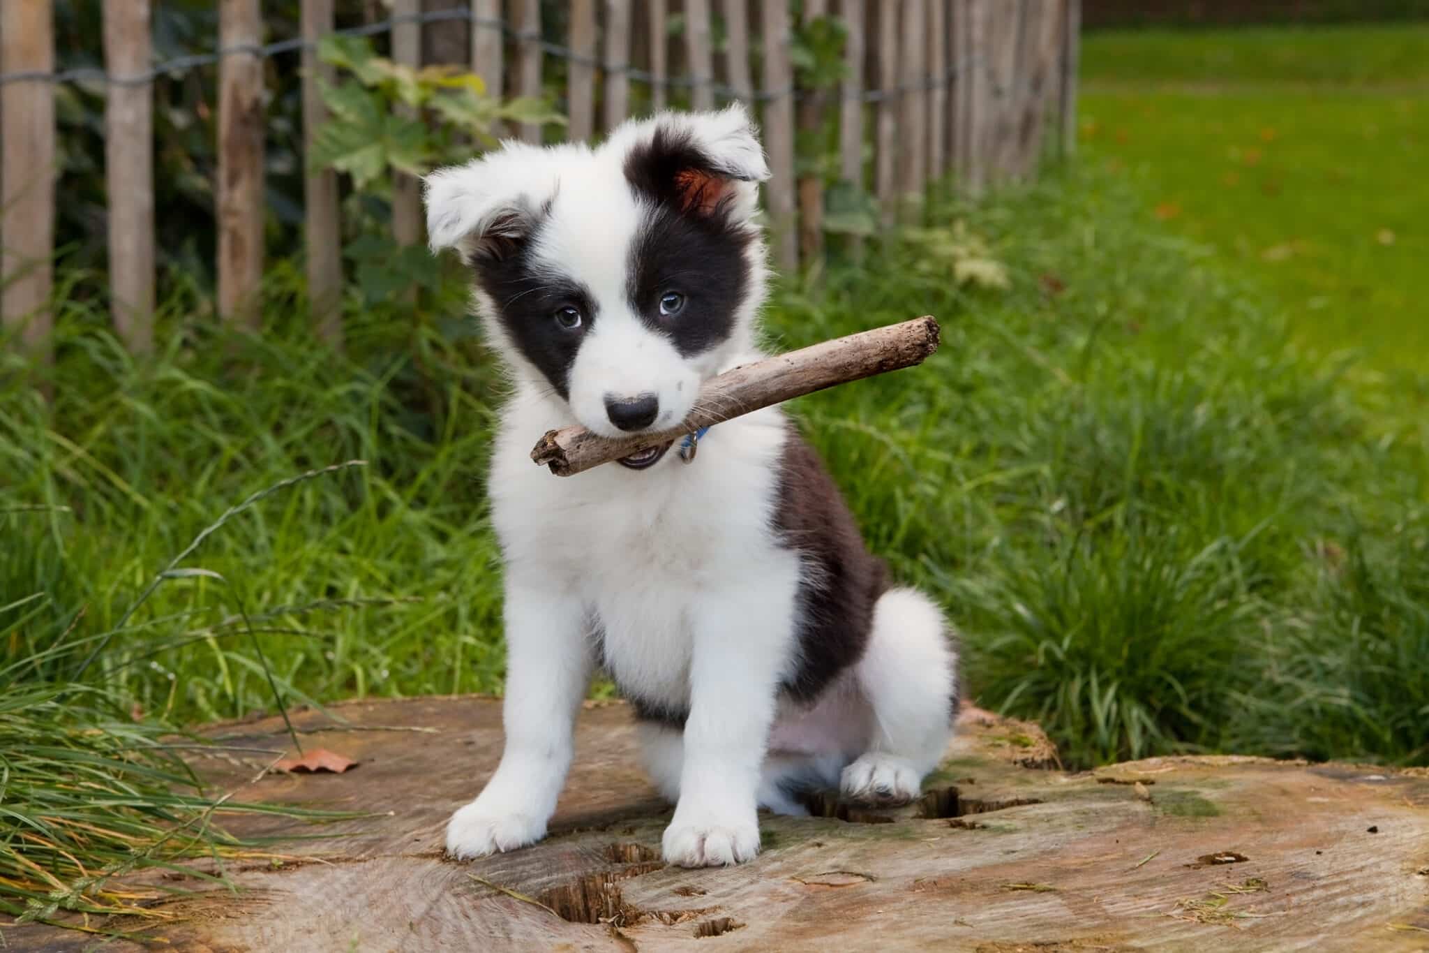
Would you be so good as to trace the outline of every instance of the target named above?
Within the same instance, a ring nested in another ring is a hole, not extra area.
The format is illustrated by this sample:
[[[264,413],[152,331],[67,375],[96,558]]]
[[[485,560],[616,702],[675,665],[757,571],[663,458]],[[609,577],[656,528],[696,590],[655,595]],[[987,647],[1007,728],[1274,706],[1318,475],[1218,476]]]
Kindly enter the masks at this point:
[[[906,96],[909,93],[922,93],[945,87],[949,83],[956,81],[963,74],[972,73],[975,69],[983,69],[987,73],[990,90],[995,99],[1002,99],[1006,90],[997,81],[997,77],[987,70],[987,63],[980,57],[972,59],[967,63],[959,64],[953,63],[949,69],[942,73],[929,76],[916,83],[903,83],[886,90],[860,90],[855,96],[846,96],[843,93],[825,93],[820,90],[806,90],[797,89],[796,86],[789,86],[780,90],[739,90],[727,83],[720,83],[714,79],[693,77],[693,76],[656,76],[649,70],[642,70],[629,63],[607,63],[600,57],[586,56],[583,53],[576,53],[569,46],[560,43],[552,43],[537,33],[524,33],[512,27],[506,20],[493,17],[479,17],[467,7],[457,7],[450,10],[427,10],[424,13],[406,13],[392,16],[386,20],[377,20],[374,23],[364,23],[356,27],[343,27],[342,30],[333,30],[324,34],[326,37],[333,36],[352,36],[352,37],[369,37],[390,33],[393,27],[404,24],[419,24],[424,26],[429,23],[443,23],[443,21],[464,21],[473,27],[497,30],[503,36],[507,36],[522,44],[536,44],[540,47],[542,53],[559,57],[569,63],[579,63],[582,66],[590,66],[606,76],[624,76],[637,83],[646,86],[663,87],[666,90],[693,90],[693,89],[709,89],[716,96],[725,99],[737,99],[752,103],[770,103],[780,99],[810,99],[822,97],[825,100],[846,100],[855,99],[863,103],[882,103],[889,99],[896,99]],[[169,77],[174,74],[187,73],[206,66],[214,66],[227,56],[254,56],[257,59],[266,60],[274,56],[282,56],[284,53],[299,53],[303,50],[314,49],[316,41],[303,37],[296,37],[292,40],[279,40],[276,43],[234,43],[230,46],[220,46],[213,53],[194,53],[189,56],[177,56],[163,63],[157,63],[143,73],[134,73],[130,76],[114,76],[107,70],[80,66],[69,70],[44,71],[44,70],[19,70],[14,73],[0,73],[0,86],[7,83],[23,83],[23,81],[49,81],[56,84],[73,84],[73,83],[99,83],[104,86],[146,86],[157,79]]]

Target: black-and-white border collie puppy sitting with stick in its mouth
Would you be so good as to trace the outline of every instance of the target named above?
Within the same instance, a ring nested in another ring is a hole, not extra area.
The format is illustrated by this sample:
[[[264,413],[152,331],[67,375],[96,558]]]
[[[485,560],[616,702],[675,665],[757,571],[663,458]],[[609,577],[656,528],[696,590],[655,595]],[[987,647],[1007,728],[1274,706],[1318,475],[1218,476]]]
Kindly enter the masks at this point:
[[[674,427],[700,384],[762,357],[757,183],[740,106],[664,113],[599,147],[506,143],[426,180],[432,247],[470,266],[512,379],[493,449],[504,554],[506,750],[452,817],[454,857],[546,834],[576,712],[600,666],[676,803],[664,859],[759,853],[759,807],[797,792],[906,803],[957,710],[956,652],[925,596],[893,587],[815,451],[777,407],[574,477],[530,447],[579,423]]]

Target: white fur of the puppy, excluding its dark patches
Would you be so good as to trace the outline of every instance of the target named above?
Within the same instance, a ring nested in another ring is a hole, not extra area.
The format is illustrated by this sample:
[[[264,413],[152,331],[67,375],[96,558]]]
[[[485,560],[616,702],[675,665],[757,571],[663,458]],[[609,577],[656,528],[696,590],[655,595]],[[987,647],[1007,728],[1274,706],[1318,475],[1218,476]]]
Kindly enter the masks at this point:
[[[447,850],[457,857],[544,836],[597,663],[646,704],[687,713],[683,730],[642,724],[649,773],[676,802],[663,844],[676,864],[749,860],[759,852],[756,809],[802,812],[795,786],[906,802],[947,740],[956,654],[937,607],[912,590],[877,599],[862,657],[816,700],[782,692],[810,652],[797,630],[813,570],[775,529],[792,439],[779,409],[714,427],[690,466],[670,453],[642,471],[610,464],[560,479],[530,461],[533,440],[554,427],[619,434],[604,409],[612,393],[656,393],[652,429],[664,429],[703,380],[760,356],[759,240],[745,250],[747,286],[730,331],[700,353],[682,354],[627,300],[633,243],[652,207],[627,183],[626,161],[662,127],[693,141],[722,177],[726,214],[750,223],[767,166],[742,107],[627,123],[594,150],[507,144],[427,180],[434,249],[479,260],[507,230],[527,240],[530,269],[579,283],[599,310],[562,381],[567,399],[503,324],[492,289],[474,290],[513,383],[489,483],[506,564],[506,750],[480,796],[452,817]]]

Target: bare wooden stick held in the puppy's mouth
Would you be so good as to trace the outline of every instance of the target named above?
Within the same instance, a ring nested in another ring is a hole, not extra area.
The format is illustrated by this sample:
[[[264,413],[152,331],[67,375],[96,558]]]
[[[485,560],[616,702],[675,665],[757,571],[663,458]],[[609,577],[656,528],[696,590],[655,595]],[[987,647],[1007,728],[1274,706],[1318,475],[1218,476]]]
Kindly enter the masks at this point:
[[[760,407],[920,364],[937,350],[937,337],[933,317],[916,317],[766,357],[706,381],[694,410],[673,430],[619,439],[602,437],[579,426],[550,430],[536,443],[532,460],[549,466],[556,476],[574,476]]]

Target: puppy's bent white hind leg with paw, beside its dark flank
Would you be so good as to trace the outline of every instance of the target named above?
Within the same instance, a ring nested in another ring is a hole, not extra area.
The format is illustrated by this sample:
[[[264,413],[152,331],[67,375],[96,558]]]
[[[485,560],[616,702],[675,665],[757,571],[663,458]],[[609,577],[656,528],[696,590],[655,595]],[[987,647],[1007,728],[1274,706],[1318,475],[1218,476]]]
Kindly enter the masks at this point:
[[[873,734],[839,787],[852,800],[907,803],[937,766],[957,716],[957,652],[937,606],[912,589],[883,593],[856,676]]]

